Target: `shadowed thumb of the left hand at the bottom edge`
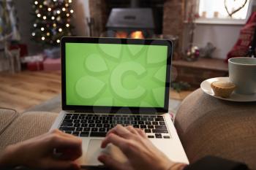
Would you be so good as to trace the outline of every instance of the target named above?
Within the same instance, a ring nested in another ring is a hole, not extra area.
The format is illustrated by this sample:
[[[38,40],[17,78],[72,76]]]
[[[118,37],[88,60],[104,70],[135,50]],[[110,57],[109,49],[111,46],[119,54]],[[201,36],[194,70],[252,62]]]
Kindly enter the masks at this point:
[[[78,163],[74,161],[61,161],[48,159],[42,162],[42,169],[80,169]]]

